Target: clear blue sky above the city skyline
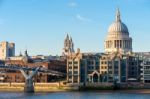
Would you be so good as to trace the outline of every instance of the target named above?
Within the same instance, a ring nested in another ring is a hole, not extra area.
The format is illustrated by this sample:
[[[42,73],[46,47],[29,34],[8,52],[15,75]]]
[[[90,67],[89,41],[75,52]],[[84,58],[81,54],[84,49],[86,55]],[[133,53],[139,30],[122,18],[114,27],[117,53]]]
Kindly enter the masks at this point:
[[[75,49],[104,52],[117,7],[133,38],[133,51],[150,51],[150,0],[0,0],[0,41],[16,54],[60,55],[67,33]]]

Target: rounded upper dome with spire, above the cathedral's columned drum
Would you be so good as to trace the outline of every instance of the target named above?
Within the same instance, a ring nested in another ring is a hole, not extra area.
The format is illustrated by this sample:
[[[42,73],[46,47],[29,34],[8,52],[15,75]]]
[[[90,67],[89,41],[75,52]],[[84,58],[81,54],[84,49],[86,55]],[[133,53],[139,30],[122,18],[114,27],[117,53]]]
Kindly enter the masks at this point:
[[[121,22],[119,9],[117,10],[115,22],[112,23],[108,29],[108,33],[112,32],[128,33],[127,26],[123,22]]]

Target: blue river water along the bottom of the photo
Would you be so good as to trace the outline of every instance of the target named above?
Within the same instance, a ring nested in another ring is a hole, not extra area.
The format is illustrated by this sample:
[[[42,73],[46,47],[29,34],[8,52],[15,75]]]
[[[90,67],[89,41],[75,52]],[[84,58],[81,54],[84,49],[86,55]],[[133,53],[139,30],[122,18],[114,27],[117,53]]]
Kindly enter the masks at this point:
[[[0,99],[150,99],[150,94],[122,92],[52,92],[12,93],[0,92]]]

